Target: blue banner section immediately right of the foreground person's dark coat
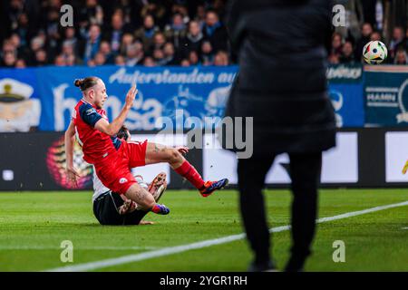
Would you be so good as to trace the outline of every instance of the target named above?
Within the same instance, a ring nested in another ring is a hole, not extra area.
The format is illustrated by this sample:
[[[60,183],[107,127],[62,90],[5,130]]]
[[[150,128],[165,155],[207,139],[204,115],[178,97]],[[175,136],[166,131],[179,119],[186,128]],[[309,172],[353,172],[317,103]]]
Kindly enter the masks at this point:
[[[327,70],[337,127],[364,127],[363,66],[333,65]]]

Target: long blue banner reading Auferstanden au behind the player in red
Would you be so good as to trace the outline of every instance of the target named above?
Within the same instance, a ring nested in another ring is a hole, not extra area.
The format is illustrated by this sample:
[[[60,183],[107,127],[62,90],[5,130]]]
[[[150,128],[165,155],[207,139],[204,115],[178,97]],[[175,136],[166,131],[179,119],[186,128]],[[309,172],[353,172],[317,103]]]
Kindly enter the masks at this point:
[[[188,117],[222,116],[238,68],[226,67],[47,67],[36,71],[44,113],[40,130],[64,131],[81,98],[73,81],[98,76],[106,85],[104,103],[109,119],[116,117],[134,82],[139,90],[125,121],[130,130],[161,128],[157,121],[169,117],[177,128],[189,128]]]

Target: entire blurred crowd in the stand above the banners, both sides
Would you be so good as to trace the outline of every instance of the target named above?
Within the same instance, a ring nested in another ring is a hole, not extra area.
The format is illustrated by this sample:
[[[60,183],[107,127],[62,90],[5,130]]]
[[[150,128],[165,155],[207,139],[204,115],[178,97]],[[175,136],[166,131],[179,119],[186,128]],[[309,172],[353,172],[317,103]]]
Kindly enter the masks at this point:
[[[227,0],[0,0],[0,66],[228,65]],[[63,27],[62,5],[73,6]],[[361,63],[380,40],[408,64],[408,1],[335,0],[346,8],[329,63]]]

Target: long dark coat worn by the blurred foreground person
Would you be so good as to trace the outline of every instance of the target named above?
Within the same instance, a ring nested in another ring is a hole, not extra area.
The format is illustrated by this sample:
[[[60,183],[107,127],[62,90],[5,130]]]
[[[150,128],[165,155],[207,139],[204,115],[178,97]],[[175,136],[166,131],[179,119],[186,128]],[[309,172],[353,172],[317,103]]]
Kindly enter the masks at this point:
[[[254,154],[335,146],[325,78],[332,7],[328,0],[238,0],[228,6],[239,73],[226,116],[254,117]]]

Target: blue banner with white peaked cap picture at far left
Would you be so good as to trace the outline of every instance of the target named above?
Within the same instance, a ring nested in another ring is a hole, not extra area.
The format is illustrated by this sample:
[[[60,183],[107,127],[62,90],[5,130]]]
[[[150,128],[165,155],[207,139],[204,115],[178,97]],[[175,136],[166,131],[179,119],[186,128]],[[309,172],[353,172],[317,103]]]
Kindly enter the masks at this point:
[[[0,70],[0,131],[30,131],[42,112],[35,69]]]

